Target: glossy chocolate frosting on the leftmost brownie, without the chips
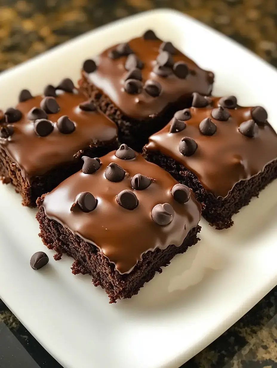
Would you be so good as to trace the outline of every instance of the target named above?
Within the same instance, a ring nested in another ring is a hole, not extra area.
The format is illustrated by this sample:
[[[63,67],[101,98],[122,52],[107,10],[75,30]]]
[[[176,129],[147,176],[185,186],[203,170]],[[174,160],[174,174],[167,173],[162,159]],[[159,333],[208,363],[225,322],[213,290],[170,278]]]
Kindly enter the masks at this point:
[[[34,177],[45,174],[59,164],[74,160],[74,155],[88,146],[109,143],[117,138],[117,127],[104,114],[95,111],[84,111],[79,104],[86,97],[75,90],[75,93],[62,92],[57,95],[56,102],[60,106],[58,113],[47,113],[53,122],[54,129],[45,137],[35,131],[35,121],[27,115],[33,107],[40,107],[44,96],[36,96],[25,102],[19,102],[17,109],[22,118],[11,124],[14,133],[8,139],[0,139],[0,147],[21,169],[22,176],[29,182]],[[68,116],[75,129],[70,134],[58,130],[57,121],[61,116]]]

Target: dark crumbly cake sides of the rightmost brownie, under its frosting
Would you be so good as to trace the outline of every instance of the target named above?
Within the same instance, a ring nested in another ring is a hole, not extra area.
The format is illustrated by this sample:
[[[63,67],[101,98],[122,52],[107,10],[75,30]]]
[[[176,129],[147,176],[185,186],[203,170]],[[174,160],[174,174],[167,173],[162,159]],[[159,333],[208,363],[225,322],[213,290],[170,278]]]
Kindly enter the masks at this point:
[[[232,216],[248,205],[252,197],[258,197],[259,192],[277,178],[277,160],[274,160],[267,164],[261,173],[235,184],[227,197],[216,198],[203,188],[195,174],[174,159],[160,152],[149,152],[145,148],[143,156],[146,160],[168,171],[181,184],[190,187],[196,199],[206,206],[202,211],[202,216],[217,230],[231,227],[234,223]]]

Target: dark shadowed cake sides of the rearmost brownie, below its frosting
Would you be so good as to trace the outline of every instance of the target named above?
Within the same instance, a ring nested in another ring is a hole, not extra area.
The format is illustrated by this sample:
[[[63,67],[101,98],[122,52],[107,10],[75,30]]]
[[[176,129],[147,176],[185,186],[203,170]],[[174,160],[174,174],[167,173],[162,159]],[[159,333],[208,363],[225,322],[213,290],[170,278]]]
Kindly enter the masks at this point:
[[[79,87],[104,114],[118,125],[119,140],[137,152],[142,152],[142,148],[148,142],[150,135],[161,130],[171,120],[176,111],[190,107],[192,103],[191,97],[182,99],[159,116],[149,117],[147,120],[136,120],[124,116],[110,98],[95,85],[90,84],[84,75],[79,80]]]

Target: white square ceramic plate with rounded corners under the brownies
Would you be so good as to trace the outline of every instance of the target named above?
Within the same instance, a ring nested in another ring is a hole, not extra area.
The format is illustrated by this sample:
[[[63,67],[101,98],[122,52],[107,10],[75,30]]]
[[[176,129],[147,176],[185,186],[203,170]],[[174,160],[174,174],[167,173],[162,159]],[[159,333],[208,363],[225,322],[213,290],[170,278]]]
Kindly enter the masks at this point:
[[[41,93],[62,77],[77,81],[81,63],[116,42],[153,28],[216,73],[216,95],[263,105],[277,128],[277,73],[251,52],[185,15],[159,10],[127,18],[57,47],[0,76],[1,107],[20,89]],[[109,304],[90,277],[73,276],[72,259],[39,271],[33,252],[35,210],[0,185],[0,297],[65,368],[179,367],[211,343],[277,284],[277,181],[216,231],[202,220],[201,242],[176,256],[131,300]]]

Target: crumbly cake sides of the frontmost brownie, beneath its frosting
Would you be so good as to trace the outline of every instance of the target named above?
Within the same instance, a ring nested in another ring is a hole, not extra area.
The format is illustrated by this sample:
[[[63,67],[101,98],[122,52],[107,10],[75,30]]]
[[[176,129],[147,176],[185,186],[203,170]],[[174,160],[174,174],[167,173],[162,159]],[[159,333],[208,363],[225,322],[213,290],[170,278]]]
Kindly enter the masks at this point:
[[[199,240],[197,234],[201,227],[191,229],[180,247],[169,245],[165,250],[158,248],[149,251],[142,256],[135,268],[129,273],[121,275],[115,270],[114,264],[103,256],[98,248],[86,242],[78,235],[74,235],[67,227],[63,227],[56,220],[51,220],[45,215],[42,206],[43,198],[38,199],[38,213],[36,219],[40,226],[40,238],[50,250],[57,253],[54,258],[60,259],[62,254],[67,254],[75,259],[72,265],[72,273],[89,274],[95,286],[101,286],[110,298],[110,303],[115,303],[121,298],[131,298],[138,294],[139,289],[149,282],[156,272],[161,273],[161,267],[170,264],[176,254],[184,253],[189,247]]]

